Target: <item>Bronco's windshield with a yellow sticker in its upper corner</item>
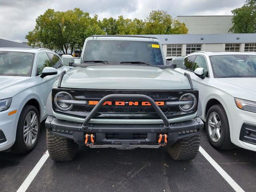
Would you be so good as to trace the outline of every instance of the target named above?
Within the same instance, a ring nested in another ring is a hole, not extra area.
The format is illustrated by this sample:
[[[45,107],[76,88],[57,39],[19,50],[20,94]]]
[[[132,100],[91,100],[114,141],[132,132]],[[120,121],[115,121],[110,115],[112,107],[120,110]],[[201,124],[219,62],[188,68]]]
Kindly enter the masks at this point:
[[[110,64],[145,62],[152,65],[164,65],[160,45],[157,42],[146,41],[88,41],[83,62],[95,60],[108,61]]]

